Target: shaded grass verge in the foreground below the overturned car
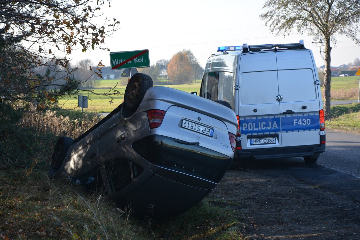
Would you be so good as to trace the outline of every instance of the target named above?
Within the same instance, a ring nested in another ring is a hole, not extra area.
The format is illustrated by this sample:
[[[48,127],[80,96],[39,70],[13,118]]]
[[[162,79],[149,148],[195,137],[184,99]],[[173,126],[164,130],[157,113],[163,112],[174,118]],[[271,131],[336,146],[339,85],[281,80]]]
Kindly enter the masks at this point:
[[[105,195],[49,180],[46,165],[30,175],[0,168],[0,236],[9,239],[246,239],[239,213],[206,198],[163,219],[135,218]],[[3,235],[1,235],[3,234]],[[4,238],[5,239],[5,238]]]

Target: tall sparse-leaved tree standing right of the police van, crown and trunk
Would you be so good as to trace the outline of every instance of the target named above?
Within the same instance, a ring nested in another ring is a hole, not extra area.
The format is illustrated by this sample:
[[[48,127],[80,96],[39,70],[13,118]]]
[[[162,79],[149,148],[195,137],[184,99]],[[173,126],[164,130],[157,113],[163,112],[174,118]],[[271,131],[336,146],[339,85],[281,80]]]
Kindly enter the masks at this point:
[[[307,33],[314,41],[325,45],[325,119],[330,114],[331,43],[336,34],[360,43],[360,0],[267,0],[262,20],[277,34],[290,34],[294,29]]]

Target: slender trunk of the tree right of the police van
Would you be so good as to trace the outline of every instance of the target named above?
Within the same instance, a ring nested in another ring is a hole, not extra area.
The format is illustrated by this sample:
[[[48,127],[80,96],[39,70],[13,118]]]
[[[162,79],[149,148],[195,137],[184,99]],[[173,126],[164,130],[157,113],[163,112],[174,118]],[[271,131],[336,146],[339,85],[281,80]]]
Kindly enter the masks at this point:
[[[328,38],[325,42],[325,79],[324,79],[324,92],[325,92],[325,103],[324,103],[324,115],[325,120],[329,120],[331,118],[330,111],[330,81],[331,81],[331,52],[332,47],[330,47],[330,38]]]

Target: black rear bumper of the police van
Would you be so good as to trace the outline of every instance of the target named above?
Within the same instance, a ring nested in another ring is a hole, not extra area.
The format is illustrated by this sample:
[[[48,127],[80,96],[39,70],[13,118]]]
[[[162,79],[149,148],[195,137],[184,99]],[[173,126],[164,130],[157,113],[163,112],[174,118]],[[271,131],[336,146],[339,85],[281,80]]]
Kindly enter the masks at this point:
[[[321,144],[289,146],[280,148],[262,148],[262,149],[237,149],[235,158],[244,159],[265,159],[265,158],[291,158],[305,157],[323,153],[325,151],[325,135],[320,136]],[[241,146],[241,141],[237,141],[237,147]]]

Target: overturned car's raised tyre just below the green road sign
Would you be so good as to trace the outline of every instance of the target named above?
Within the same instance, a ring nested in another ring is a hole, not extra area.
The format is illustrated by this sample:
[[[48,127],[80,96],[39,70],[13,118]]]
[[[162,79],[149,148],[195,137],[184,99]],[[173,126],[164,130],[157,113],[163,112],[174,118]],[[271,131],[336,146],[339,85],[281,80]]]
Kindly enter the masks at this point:
[[[124,107],[135,112],[144,98],[145,92],[153,86],[152,78],[144,73],[135,73],[126,85]]]

